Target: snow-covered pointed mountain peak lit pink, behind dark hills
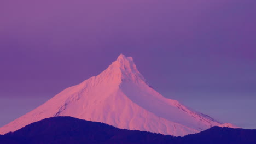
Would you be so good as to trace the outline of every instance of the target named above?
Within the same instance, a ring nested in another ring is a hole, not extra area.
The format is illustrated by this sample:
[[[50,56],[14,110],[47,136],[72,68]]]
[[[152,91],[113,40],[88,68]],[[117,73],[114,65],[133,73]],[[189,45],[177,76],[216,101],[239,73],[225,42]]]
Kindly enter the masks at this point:
[[[15,131],[48,117],[72,116],[118,128],[184,136],[221,123],[151,88],[132,57],[120,55],[100,75],[69,87],[43,105],[0,128]]]

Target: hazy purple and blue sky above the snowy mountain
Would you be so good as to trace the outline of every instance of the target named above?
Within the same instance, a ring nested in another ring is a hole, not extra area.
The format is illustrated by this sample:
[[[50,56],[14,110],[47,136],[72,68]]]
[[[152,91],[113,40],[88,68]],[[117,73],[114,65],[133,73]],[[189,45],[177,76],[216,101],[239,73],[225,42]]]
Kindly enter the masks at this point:
[[[256,128],[255,0],[0,1],[0,127],[120,53],[150,85]]]

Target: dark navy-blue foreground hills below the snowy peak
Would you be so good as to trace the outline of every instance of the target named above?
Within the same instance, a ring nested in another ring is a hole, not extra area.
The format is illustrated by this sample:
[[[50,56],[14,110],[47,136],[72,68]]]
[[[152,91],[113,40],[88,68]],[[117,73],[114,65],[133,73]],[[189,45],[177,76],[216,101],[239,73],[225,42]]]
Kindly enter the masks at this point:
[[[201,133],[175,137],[118,129],[73,117],[52,117],[0,135],[0,143],[256,143],[256,130],[212,127]]]

